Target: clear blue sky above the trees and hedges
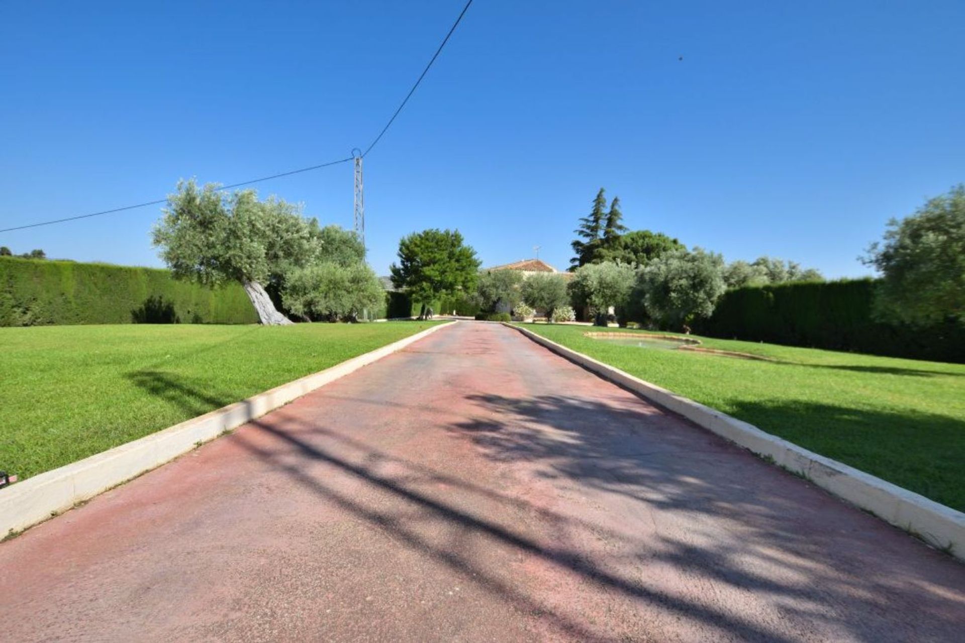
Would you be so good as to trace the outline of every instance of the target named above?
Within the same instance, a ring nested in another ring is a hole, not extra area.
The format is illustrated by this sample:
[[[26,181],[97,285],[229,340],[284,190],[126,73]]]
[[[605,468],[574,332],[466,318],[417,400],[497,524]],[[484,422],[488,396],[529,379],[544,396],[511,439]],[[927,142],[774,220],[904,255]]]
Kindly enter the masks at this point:
[[[0,228],[365,147],[462,4],[3,3]],[[372,265],[438,227],[564,268],[603,186],[631,228],[866,274],[890,217],[965,181],[963,24],[960,0],[477,0],[366,159]],[[351,226],[350,164],[259,190]],[[160,265],[158,216],[0,245]]]

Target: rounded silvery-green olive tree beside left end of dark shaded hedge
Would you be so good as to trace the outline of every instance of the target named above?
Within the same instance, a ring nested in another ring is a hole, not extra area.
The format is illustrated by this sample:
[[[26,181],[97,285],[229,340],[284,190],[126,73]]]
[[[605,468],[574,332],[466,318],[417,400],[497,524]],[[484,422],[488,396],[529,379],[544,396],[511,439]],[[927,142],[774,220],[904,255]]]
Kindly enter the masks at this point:
[[[641,271],[644,305],[666,328],[688,330],[696,317],[709,317],[726,289],[724,259],[700,248],[675,251]]]

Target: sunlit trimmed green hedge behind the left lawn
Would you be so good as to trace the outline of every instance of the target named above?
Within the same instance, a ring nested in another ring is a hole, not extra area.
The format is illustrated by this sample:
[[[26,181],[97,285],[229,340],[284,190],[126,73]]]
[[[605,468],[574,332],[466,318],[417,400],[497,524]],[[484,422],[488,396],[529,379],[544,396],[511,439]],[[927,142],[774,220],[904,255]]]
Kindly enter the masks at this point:
[[[211,289],[154,268],[0,257],[0,326],[257,321],[240,284]]]

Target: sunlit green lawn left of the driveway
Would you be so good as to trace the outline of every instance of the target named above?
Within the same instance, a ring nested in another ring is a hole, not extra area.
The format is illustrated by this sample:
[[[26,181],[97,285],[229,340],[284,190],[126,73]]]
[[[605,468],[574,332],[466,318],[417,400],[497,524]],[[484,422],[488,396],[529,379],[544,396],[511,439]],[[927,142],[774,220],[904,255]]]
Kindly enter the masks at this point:
[[[36,475],[433,325],[0,328],[0,469]]]

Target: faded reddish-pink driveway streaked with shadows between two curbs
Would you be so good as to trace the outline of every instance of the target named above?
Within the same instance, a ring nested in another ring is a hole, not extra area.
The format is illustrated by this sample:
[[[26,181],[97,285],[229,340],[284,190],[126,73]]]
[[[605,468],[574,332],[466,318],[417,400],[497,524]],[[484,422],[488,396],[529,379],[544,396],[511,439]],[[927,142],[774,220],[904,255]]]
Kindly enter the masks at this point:
[[[965,566],[482,323],[3,543],[0,582],[7,641],[965,636]]]

